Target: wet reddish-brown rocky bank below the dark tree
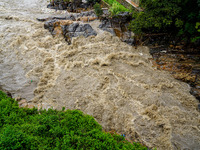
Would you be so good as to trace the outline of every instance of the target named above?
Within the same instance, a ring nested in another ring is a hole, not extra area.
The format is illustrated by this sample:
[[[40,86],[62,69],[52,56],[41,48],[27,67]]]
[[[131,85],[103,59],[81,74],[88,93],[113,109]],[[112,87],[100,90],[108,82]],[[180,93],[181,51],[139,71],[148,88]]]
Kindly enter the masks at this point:
[[[172,47],[172,46],[171,46]],[[152,63],[191,86],[191,94],[200,100],[200,51],[196,48],[150,48]]]

